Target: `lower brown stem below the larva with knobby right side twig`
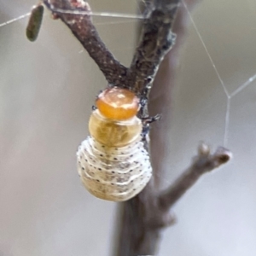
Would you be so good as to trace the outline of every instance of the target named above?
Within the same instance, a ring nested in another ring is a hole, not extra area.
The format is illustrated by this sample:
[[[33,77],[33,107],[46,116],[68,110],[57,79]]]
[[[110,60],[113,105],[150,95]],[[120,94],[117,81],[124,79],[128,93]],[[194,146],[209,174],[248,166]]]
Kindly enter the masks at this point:
[[[207,146],[199,148],[192,165],[169,189],[155,194],[154,182],[137,197],[124,203],[116,256],[155,255],[158,251],[161,230],[175,222],[170,208],[206,172],[228,162],[231,153],[218,148],[210,154]]]

